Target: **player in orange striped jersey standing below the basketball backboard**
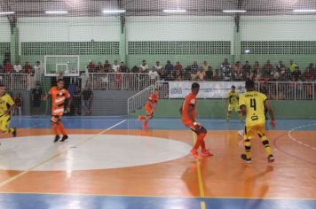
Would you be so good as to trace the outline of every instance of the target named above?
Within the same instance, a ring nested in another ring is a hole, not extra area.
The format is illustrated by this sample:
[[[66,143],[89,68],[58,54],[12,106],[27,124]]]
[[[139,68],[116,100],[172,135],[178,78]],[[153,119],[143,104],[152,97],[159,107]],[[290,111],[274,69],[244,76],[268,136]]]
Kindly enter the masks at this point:
[[[57,81],[57,86],[51,87],[48,93],[51,96],[51,128],[55,134],[54,143],[58,142],[60,139],[59,132],[63,135],[60,142],[67,140],[68,135],[61,122],[61,117],[65,112],[65,102],[67,103],[67,112],[70,112],[71,97],[67,89],[64,89],[64,80],[59,79]],[[47,100],[47,97],[43,98]]]

